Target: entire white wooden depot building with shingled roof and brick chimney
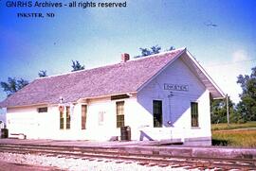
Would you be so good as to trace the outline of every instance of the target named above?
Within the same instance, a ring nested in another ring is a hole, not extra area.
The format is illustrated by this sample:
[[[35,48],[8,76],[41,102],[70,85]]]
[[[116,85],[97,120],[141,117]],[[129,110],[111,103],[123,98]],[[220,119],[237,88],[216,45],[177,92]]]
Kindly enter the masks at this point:
[[[0,103],[9,136],[27,139],[180,140],[210,145],[210,98],[223,98],[186,48],[40,77]]]

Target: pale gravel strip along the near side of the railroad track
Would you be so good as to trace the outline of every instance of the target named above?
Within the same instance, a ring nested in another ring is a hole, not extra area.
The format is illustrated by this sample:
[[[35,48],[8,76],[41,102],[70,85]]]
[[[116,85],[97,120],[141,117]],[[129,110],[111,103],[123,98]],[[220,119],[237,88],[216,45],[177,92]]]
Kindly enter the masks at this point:
[[[0,152],[0,161],[23,163],[30,165],[54,166],[63,170],[88,170],[88,171],[166,171],[166,170],[185,170],[184,168],[172,168],[171,166],[146,166],[139,165],[137,162],[106,162],[108,160],[89,161],[82,159],[65,159],[58,157],[46,157],[32,154],[13,154]],[[190,169],[191,170],[191,169]],[[193,169],[198,170],[198,169]]]

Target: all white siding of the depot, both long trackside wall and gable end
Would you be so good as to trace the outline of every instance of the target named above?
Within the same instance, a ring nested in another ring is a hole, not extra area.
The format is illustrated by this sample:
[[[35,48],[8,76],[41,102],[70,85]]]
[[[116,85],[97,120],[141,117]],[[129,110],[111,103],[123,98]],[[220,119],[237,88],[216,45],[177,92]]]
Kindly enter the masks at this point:
[[[164,90],[164,83],[189,85],[188,92]],[[129,86],[129,85],[127,85]],[[153,128],[153,100],[162,100],[163,128]],[[87,100],[86,129],[82,129],[82,103],[70,105],[71,128],[60,129],[57,105],[39,113],[37,107],[8,109],[9,133],[24,133],[32,139],[109,140],[120,136],[116,102],[124,101],[125,126],[132,128],[132,140],[210,137],[210,94],[179,58],[130,98]],[[199,127],[191,127],[191,102],[198,103]],[[69,106],[69,105],[68,105]],[[103,120],[99,121],[102,114]],[[173,123],[170,127],[168,121]]]

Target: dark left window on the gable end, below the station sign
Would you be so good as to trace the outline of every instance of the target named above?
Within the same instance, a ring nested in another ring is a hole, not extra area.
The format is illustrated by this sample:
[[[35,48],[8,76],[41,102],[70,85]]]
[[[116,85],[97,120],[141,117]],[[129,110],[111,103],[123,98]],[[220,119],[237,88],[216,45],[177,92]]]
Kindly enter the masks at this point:
[[[153,100],[153,122],[155,128],[162,127],[162,101]]]

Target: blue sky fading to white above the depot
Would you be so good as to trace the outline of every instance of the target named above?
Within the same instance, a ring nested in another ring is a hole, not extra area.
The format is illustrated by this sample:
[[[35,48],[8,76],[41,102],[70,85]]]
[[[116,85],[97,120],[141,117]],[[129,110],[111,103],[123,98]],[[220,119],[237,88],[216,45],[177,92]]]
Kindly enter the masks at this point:
[[[126,7],[86,9],[14,8],[7,2],[0,1],[0,81],[32,81],[40,70],[49,76],[70,72],[71,60],[89,69],[117,63],[121,53],[137,56],[139,47],[158,44],[166,50],[173,45],[187,47],[237,103],[242,92],[238,75],[249,75],[256,66],[254,0],[92,1],[126,2]],[[19,18],[17,12],[52,12],[55,17]],[[5,98],[1,89],[0,101]]]

